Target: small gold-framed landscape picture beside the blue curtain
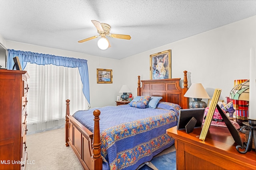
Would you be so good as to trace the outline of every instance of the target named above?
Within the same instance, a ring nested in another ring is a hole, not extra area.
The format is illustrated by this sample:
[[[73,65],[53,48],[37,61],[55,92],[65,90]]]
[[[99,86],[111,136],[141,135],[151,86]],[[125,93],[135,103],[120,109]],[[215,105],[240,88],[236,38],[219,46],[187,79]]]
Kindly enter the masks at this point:
[[[97,83],[112,83],[112,70],[97,68]]]

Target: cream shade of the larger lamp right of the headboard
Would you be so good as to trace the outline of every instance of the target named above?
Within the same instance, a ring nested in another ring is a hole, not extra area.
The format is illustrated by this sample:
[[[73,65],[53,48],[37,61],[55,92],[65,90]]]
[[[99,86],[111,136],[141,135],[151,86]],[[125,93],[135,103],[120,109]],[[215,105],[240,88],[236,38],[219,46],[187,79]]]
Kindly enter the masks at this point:
[[[201,83],[192,83],[188,91],[184,95],[187,98],[199,98],[199,99],[209,99],[204,86]]]

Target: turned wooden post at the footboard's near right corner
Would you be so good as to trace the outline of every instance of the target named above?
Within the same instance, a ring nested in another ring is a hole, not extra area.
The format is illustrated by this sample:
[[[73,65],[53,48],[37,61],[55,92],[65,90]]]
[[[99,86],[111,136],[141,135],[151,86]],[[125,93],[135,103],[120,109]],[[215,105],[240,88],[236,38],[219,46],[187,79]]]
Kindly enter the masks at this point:
[[[100,111],[94,110],[94,133],[93,133],[93,143],[92,143],[92,157],[93,158],[99,158],[101,156],[100,154]]]

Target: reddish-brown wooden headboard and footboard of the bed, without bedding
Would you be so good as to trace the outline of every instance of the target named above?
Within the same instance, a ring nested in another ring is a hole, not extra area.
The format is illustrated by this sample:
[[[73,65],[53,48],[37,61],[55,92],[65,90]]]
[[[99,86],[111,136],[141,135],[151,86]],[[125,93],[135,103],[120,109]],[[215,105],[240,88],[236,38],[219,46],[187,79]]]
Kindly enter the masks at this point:
[[[142,80],[138,76],[137,96],[162,96],[163,102],[179,104],[188,108],[188,98],[184,94],[188,90],[187,71],[184,71],[183,88],[180,88],[180,78],[163,80]],[[70,146],[85,170],[102,170],[102,156],[100,154],[100,111],[95,110],[94,133],[79,123],[69,111],[69,102],[66,100],[65,142]]]

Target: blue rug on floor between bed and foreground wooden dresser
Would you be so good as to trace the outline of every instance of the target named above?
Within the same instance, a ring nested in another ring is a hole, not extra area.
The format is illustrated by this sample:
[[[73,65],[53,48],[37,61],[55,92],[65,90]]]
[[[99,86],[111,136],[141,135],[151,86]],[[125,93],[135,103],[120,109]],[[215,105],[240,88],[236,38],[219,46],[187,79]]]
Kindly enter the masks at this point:
[[[158,170],[176,170],[176,151],[157,156],[150,161]]]

